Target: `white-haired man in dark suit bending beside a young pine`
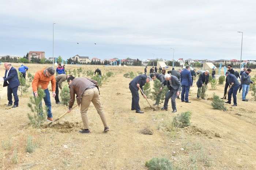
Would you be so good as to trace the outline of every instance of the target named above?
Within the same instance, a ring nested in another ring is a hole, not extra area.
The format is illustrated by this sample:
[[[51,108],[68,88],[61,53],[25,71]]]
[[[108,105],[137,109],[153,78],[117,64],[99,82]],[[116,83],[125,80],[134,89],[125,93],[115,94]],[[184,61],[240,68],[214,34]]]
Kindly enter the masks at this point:
[[[177,112],[175,99],[177,98],[177,96],[180,95],[181,83],[178,80],[178,78],[167,73],[165,74],[165,80],[163,81],[163,84],[166,84],[167,88],[169,89],[169,92],[165,95],[165,103],[163,104],[161,110],[167,110],[168,102],[169,99],[171,98],[173,109],[172,113],[175,113]]]

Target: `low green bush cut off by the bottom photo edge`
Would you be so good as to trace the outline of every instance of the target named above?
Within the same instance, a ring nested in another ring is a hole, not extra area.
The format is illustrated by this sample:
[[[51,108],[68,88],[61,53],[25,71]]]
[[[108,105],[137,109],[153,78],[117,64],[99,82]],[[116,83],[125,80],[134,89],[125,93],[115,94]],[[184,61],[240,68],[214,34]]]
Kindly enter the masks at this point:
[[[152,158],[145,163],[150,170],[175,170],[168,158]]]

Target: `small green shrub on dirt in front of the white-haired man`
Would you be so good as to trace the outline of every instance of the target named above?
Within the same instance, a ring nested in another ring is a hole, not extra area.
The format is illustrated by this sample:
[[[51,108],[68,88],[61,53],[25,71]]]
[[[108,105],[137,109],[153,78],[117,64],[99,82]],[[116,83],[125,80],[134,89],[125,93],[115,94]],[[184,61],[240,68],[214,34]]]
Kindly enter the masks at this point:
[[[176,130],[177,128],[184,128],[191,124],[190,122],[191,114],[192,112],[187,111],[185,113],[182,112],[177,114],[177,116],[174,116],[172,124],[174,127],[176,127]]]

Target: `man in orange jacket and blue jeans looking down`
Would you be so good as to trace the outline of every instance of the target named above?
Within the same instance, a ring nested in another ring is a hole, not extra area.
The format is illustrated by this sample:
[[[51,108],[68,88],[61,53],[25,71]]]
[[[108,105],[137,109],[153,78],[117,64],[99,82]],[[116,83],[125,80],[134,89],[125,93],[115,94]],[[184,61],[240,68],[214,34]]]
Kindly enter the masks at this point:
[[[45,91],[45,105],[48,107],[47,110],[47,121],[52,122],[52,103],[50,100],[50,92],[48,89],[48,84],[51,82],[52,84],[52,97],[55,97],[55,89],[56,89],[56,80],[54,77],[55,70],[53,67],[43,68],[42,70],[35,73],[34,80],[32,82],[32,89],[35,97],[38,97],[37,89],[39,85]]]

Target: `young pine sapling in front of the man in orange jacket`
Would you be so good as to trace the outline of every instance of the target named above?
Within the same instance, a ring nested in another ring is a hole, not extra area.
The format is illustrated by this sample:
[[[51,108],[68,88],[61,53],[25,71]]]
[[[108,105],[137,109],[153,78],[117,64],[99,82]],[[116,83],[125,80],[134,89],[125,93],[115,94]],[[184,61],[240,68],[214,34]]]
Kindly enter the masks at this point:
[[[38,97],[30,97],[30,103],[27,103],[27,106],[31,109],[33,114],[27,113],[30,122],[37,128],[41,126],[41,123],[46,120],[47,117],[47,110],[48,107],[45,106],[44,108],[41,105],[42,99],[45,97],[45,92],[39,86],[38,90]]]

